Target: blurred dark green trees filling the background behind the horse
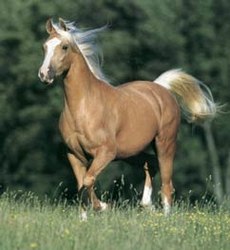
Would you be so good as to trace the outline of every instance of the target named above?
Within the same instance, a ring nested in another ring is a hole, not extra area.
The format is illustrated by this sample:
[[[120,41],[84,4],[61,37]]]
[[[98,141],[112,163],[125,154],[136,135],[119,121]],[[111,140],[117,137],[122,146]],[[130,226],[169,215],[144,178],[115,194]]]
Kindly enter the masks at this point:
[[[62,83],[45,87],[37,77],[49,17],[76,21],[84,28],[108,25],[98,42],[104,72],[113,85],[153,80],[168,69],[182,68],[204,81],[215,100],[229,108],[228,0],[1,1],[1,192],[30,190],[51,197],[76,192],[58,132]],[[174,169],[176,198],[206,196],[221,202],[230,195],[229,122],[228,113],[205,127],[182,120]],[[113,198],[119,192],[125,198],[138,196],[144,178],[140,165],[138,160],[112,163],[99,180],[101,190],[109,190]]]

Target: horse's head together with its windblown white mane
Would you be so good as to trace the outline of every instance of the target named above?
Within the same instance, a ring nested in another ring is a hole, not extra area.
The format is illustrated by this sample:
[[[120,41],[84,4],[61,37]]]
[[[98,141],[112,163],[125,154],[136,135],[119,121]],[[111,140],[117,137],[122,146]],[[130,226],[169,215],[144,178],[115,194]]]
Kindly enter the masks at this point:
[[[67,72],[76,54],[84,58],[96,78],[106,80],[100,68],[100,55],[94,39],[105,28],[82,31],[61,18],[58,24],[49,19],[46,22],[49,37],[43,44],[45,58],[38,73],[41,81],[52,83],[56,76]]]

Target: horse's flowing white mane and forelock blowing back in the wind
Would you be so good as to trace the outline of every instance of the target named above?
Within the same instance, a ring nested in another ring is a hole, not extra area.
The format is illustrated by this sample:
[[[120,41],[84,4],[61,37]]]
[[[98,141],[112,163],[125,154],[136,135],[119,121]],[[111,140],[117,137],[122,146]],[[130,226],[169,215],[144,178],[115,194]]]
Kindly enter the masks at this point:
[[[74,46],[79,48],[96,78],[107,82],[108,79],[101,69],[102,53],[95,42],[97,33],[105,30],[106,26],[83,31],[77,28],[74,22],[64,21],[64,23],[67,28],[66,31],[64,31],[59,24],[53,23],[57,33],[66,37]]]

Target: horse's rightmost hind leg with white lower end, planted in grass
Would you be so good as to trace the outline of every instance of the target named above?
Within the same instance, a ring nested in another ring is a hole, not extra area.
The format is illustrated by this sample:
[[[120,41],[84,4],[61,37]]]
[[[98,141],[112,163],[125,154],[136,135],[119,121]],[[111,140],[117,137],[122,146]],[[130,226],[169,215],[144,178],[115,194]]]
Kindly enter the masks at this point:
[[[164,208],[164,214],[168,215],[172,205],[172,173],[173,160],[176,150],[176,139],[156,138],[156,148],[161,175],[161,198]]]

